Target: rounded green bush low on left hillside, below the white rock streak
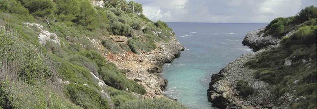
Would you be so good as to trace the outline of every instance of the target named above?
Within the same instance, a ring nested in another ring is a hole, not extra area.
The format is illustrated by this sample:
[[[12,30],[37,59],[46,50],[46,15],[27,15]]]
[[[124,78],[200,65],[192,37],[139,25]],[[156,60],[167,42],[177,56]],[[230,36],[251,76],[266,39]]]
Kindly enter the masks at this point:
[[[70,100],[85,109],[108,109],[106,98],[82,84],[69,84],[66,87]]]

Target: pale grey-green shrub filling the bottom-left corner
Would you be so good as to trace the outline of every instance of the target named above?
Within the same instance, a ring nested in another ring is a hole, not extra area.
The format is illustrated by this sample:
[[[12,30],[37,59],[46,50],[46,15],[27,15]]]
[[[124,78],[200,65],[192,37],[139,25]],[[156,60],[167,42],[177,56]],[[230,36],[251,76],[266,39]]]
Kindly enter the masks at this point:
[[[81,109],[59,95],[51,84],[36,82],[33,85],[7,79],[0,83],[13,109]],[[56,88],[56,87],[54,87]]]

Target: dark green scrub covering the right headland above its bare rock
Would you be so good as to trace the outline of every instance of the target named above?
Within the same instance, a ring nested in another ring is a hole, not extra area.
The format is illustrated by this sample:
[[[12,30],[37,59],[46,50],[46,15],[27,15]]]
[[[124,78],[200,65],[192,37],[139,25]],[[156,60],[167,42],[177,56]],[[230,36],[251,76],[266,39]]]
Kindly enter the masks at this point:
[[[279,24],[285,20],[285,30],[280,31],[284,24]],[[286,93],[305,98],[293,103],[292,108],[316,109],[316,7],[306,7],[293,17],[277,18],[267,27],[269,34],[277,36],[289,32],[286,28],[296,31],[282,37],[279,47],[258,54],[246,65],[257,70],[256,79],[277,86],[277,98]]]

